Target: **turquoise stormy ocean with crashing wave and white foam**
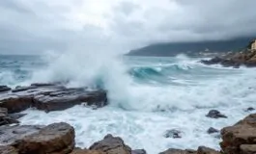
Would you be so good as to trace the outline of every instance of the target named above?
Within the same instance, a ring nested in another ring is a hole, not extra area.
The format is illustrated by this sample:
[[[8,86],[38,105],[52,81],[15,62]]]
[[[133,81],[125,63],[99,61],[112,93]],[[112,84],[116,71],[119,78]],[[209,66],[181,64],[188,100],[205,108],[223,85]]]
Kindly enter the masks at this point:
[[[87,55],[88,56],[88,55]],[[105,135],[121,137],[132,149],[156,154],[168,148],[219,149],[221,129],[255,108],[255,68],[198,63],[200,58],[117,57],[115,60],[70,56],[0,56],[0,85],[12,88],[35,82],[63,82],[68,87],[108,91],[109,105],[93,110],[83,105],[61,112],[29,109],[21,124],[68,122],[76,145],[88,147]],[[228,118],[206,117],[218,110]],[[165,138],[167,130],[181,139]]]

